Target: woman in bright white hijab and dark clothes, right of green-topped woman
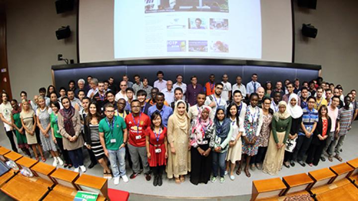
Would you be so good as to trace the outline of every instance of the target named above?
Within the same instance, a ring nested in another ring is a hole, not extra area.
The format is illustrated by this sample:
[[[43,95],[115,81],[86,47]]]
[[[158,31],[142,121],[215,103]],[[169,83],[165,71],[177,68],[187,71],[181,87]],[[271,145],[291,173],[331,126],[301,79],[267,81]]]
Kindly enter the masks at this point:
[[[290,167],[289,165],[291,165],[292,167],[295,165],[295,163],[292,161],[292,156],[293,156],[293,150],[296,146],[298,130],[302,123],[303,111],[302,108],[298,105],[297,100],[298,100],[298,96],[295,93],[291,93],[291,95],[288,98],[287,112],[291,115],[292,124],[291,124],[290,133],[288,134],[288,139],[286,141],[286,147],[285,147],[285,153],[283,159],[283,165],[286,168],[289,168]]]

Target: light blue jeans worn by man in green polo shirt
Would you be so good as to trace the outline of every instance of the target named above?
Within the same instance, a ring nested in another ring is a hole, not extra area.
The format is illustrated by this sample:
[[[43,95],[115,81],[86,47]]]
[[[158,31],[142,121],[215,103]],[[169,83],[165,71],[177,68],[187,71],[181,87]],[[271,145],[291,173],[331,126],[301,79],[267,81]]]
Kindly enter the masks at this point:
[[[126,174],[125,172],[125,147],[118,150],[108,150],[108,158],[111,164],[113,177],[119,177]],[[117,165],[119,163],[119,168]]]

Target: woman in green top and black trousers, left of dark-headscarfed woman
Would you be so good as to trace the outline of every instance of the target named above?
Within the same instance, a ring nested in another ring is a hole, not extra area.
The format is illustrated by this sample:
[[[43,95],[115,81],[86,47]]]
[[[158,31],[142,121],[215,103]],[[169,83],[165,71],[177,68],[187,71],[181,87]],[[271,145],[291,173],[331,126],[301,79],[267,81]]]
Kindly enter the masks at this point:
[[[72,168],[72,163],[68,155],[68,151],[63,148],[62,135],[60,134],[60,130],[58,128],[58,112],[60,111],[59,102],[57,101],[51,102],[51,109],[52,109],[52,113],[50,114],[50,124],[51,124],[52,140],[55,142],[55,144],[59,146],[61,150],[62,156],[64,157],[65,160],[64,167]],[[62,164],[60,163],[60,165]]]

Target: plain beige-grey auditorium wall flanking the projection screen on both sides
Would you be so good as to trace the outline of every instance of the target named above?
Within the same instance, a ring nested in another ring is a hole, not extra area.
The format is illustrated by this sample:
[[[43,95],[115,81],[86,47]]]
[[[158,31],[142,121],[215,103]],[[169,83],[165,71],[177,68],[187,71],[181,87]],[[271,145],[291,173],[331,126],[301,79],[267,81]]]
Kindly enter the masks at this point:
[[[341,83],[345,91],[355,88],[358,1],[320,0],[316,10],[295,7],[295,62],[322,65],[325,80]],[[76,12],[56,14],[53,0],[6,0],[6,17],[12,94],[19,99],[25,90],[32,98],[39,87],[52,83],[51,65],[63,63],[57,54],[77,61]],[[318,28],[316,39],[301,36],[302,23]],[[71,40],[56,39],[61,25],[70,25]]]

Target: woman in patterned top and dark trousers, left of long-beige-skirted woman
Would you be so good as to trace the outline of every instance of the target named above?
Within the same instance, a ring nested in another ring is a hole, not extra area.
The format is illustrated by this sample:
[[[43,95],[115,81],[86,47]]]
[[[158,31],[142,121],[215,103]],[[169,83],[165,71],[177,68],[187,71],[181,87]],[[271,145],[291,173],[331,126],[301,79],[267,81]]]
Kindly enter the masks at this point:
[[[269,146],[269,137],[271,132],[271,122],[272,122],[272,110],[269,108],[271,105],[271,99],[265,97],[263,102],[263,125],[261,127],[261,132],[258,137],[258,153],[251,157],[250,164],[251,170],[255,170],[256,168],[261,170],[261,163],[264,162],[264,158]]]

